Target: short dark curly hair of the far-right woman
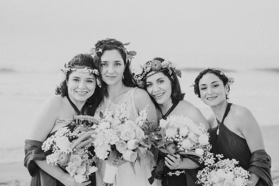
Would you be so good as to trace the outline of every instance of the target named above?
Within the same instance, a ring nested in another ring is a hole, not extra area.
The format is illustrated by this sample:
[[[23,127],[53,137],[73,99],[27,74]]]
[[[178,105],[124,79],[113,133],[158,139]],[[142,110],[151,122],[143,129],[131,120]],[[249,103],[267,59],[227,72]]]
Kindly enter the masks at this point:
[[[198,83],[200,82],[200,79],[203,77],[203,75],[205,75],[207,73],[216,75],[223,82],[224,86],[228,83],[228,78],[225,75],[222,75],[220,70],[208,68],[208,69],[201,71],[200,74],[198,74],[198,76],[196,77],[195,83],[194,83],[194,92],[199,98],[201,98],[201,94],[200,94],[200,90],[198,88]],[[229,92],[230,86],[228,86],[228,87],[229,87],[229,90],[228,90],[228,92]],[[226,99],[229,99],[228,95],[226,95]]]

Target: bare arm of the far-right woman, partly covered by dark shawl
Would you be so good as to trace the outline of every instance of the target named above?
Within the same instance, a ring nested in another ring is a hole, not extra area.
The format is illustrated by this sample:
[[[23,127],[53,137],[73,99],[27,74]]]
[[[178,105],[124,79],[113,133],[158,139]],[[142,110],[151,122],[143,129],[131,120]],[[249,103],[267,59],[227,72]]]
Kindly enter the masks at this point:
[[[245,107],[239,107],[235,112],[235,117],[237,118],[237,129],[246,139],[251,153],[256,150],[264,149],[264,140],[260,126],[250,110]],[[259,176],[254,173],[250,173],[250,175],[249,180],[251,180],[252,183],[249,186],[254,186],[259,181]]]

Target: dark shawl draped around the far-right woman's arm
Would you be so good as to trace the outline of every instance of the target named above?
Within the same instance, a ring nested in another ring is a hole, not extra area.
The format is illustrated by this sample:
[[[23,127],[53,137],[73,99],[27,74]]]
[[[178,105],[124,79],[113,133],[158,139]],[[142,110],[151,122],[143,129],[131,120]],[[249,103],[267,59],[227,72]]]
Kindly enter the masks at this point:
[[[252,153],[248,171],[260,177],[257,186],[272,186],[271,158],[264,149]]]

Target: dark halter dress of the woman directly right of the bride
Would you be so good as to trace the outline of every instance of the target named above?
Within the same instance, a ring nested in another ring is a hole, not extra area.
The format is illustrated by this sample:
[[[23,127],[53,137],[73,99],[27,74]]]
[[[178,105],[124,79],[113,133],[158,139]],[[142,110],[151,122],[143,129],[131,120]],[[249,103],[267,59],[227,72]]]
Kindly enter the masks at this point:
[[[167,117],[171,114],[171,112],[174,110],[174,108],[178,105],[179,101],[177,103],[174,103],[171,108],[168,110],[168,112],[165,115],[162,115],[162,119],[167,119]],[[162,112],[161,112],[162,114]],[[164,157],[162,157],[164,158]],[[194,162],[198,163],[196,159],[189,158],[193,160]],[[198,163],[199,164],[199,163]],[[172,174],[165,174],[165,179],[162,180],[162,186],[192,186],[197,185],[195,182],[197,180],[197,174],[200,168],[197,169],[169,169],[168,167],[165,168],[166,173],[175,173],[177,171],[180,172],[180,175]]]

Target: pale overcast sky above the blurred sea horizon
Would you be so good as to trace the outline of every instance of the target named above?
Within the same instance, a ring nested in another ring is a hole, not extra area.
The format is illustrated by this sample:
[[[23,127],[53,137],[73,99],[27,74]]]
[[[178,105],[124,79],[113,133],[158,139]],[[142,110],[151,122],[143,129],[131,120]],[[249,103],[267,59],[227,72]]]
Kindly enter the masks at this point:
[[[0,1],[0,67],[58,69],[106,37],[135,62],[279,67],[279,1]]]

